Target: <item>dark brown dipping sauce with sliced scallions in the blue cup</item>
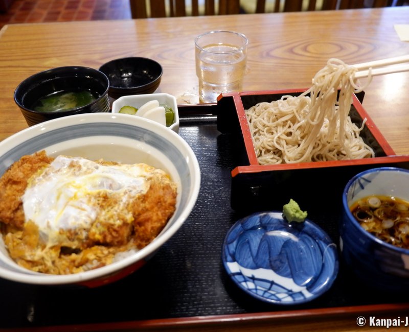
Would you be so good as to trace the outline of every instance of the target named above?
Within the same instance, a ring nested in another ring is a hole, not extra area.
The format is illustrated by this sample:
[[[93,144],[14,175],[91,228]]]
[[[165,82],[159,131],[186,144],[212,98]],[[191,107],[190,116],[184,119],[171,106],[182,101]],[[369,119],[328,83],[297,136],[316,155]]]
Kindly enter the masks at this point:
[[[409,249],[409,202],[390,196],[368,196],[350,210],[363,229],[394,246]]]

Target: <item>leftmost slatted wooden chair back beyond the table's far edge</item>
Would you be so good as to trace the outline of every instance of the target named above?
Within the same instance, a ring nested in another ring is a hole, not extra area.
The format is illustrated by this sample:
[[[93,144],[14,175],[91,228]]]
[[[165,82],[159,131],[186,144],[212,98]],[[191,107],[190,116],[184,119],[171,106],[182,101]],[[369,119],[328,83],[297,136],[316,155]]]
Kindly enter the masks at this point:
[[[186,0],[129,0],[132,18],[186,16]],[[199,15],[199,1],[191,0],[191,15]],[[149,7],[147,7],[147,4]],[[215,0],[205,0],[205,15],[227,15],[240,12],[240,0],[219,0],[216,13]],[[150,16],[149,16],[150,13]]]

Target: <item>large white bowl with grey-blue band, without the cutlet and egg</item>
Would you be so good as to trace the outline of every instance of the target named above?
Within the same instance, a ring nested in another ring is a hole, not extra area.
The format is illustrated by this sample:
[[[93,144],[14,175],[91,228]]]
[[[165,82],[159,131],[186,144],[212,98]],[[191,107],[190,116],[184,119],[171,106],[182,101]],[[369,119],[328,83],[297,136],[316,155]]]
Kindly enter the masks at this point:
[[[0,235],[0,277],[29,284],[79,284],[98,287],[143,266],[184,224],[200,186],[195,154],[174,131],[153,121],[125,114],[71,115],[22,130],[0,143],[0,176],[24,155],[45,150],[52,157],[78,156],[120,163],[146,163],[168,173],[177,186],[176,210],[165,228],[146,247],[115,262],[74,274],[37,273],[10,258]]]

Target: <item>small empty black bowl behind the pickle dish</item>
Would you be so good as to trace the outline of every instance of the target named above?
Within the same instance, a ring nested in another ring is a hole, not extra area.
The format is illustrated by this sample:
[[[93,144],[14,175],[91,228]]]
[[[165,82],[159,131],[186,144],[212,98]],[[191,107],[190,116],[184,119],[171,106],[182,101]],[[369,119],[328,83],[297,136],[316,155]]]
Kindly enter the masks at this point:
[[[161,83],[162,66],[148,58],[128,57],[111,60],[99,70],[109,79],[109,97],[153,93]]]

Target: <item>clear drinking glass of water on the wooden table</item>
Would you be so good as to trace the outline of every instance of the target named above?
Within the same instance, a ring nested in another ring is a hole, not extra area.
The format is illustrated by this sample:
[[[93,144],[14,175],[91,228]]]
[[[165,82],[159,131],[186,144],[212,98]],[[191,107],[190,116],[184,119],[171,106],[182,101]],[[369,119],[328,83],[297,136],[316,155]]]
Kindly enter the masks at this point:
[[[196,75],[201,103],[215,103],[220,93],[242,89],[247,44],[246,36],[233,31],[210,31],[196,37]]]

